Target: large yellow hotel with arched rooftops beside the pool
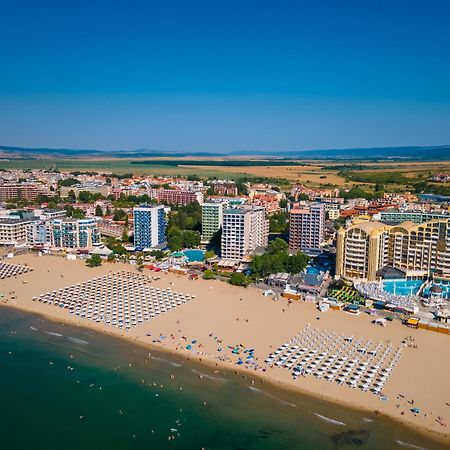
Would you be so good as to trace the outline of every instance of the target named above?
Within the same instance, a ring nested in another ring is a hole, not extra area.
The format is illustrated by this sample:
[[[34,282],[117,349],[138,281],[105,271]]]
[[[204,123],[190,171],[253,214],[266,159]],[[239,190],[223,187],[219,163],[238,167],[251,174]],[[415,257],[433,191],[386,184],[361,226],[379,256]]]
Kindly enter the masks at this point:
[[[450,278],[450,219],[399,225],[362,222],[338,230],[336,275],[373,281],[383,267],[410,278]]]

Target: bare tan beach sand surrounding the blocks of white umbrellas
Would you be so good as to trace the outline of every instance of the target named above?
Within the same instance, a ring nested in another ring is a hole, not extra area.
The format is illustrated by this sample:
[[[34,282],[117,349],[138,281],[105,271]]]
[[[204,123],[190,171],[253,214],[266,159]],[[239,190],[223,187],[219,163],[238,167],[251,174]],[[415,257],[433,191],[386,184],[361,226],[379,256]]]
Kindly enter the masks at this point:
[[[4,262],[25,264],[33,268],[32,272],[0,280],[0,292],[4,295],[2,304],[6,306],[90,327],[141,345],[157,346],[158,349],[177,352],[185,357],[201,359],[202,363],[217,365],[218,370],[236,370],[240,375],[247,372],[253,376],[249,377],[249,382],[252,378],[261,378],[265,382],[348,407],[371,412],[380,410],[384,416],[450,442],[447,427],[450,424],[448,335],[410,330],[399,322],[389,323],[386,328],[382,328],[372,325],[373,318],[366,314],[352,316],[342,311],[320,313],[314,304],[273,301],[255,288],[233,287],[220,281],[192,281],[170,273],[157,274],[160,279],[153,281],[152,286],[171,288],[173,291],[195,295],[196,298],[125,332],[103,323],[80,319],[66,309],[33,301],[33,297],[110,272],[136,272],[134,266],[104,263],[102,267],[88,268],[83,261],[35,255],[18,256]],[[152,274],[148,271],[145,273]],[[413,336],[417,348],[402,347],[402,357],[383,389],[387,397],[383,401],[372,393],[317,380],[312,376],[293,380],[288,370],[270,368],[264,363],[269,353],[289,341],[308,324],[320,330],[351,334],[374,341],[390,340],[395,346],[401,346],[402,340]],[[187,350],[187,344],[192,341],[195,344]],[[260,368],[265,368],[265,371],[245,369],[235,364],[236,358],[233,359],[233,355],[226,349],[240,344],[254,349],[257,364]],[[219,351],[219,348],[222,350]],[[231,361],[222,361],[227,359],[225,355]],[[419,408],[420,413],[412,413],[412,407]]]

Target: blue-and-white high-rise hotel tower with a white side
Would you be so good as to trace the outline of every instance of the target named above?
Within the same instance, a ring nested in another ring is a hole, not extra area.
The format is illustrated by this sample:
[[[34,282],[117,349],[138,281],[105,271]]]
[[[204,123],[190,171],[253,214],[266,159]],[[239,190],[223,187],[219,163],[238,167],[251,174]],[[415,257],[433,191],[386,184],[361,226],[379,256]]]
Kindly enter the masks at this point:
[[[166,240],[166,218],[163,205],[140,205],[133,208],[134,246],[155,248]]]

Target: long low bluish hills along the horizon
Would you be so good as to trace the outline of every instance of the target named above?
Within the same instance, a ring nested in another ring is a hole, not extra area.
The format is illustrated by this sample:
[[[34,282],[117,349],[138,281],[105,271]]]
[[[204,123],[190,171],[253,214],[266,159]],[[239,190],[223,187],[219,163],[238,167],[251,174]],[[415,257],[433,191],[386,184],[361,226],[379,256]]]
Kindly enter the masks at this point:
[[[0,159],[46,159],[46,158],[89,158],[89,157],[115,157],[115,158],[149,158],[149,157],[237,157],[252,156],[254,158],[274,159],[318,159],[318,160],[418,160],[436,161],[450,159],[450,145],[440,146],[413,146],[413,147],[373,147],[348,149],[321,149],[298,151],[229,151],[229,152],[183,152],[161,151],[152,149],[137,150],[90,150],[90,149],[64,149],[64,148],[27,148],[0,145]]]

